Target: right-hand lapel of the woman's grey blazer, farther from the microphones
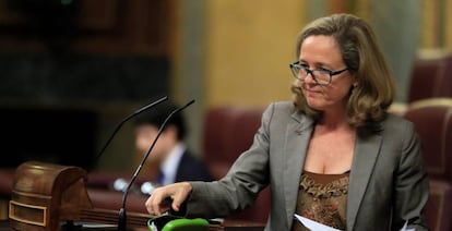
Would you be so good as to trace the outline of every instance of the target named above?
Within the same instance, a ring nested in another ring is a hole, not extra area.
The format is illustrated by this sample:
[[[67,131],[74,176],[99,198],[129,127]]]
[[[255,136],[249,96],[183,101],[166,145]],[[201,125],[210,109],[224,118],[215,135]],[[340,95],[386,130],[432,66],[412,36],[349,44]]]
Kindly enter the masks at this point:
[[[381,147],[381,135],[357,135],[347,196],[347,230],[353,230],[359,206]]]

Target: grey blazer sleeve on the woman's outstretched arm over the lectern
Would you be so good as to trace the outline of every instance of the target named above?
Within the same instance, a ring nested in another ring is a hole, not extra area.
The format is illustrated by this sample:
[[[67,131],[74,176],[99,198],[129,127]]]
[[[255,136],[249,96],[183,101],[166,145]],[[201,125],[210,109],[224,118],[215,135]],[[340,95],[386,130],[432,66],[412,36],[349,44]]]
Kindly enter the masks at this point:
[[[242,153],[228,173],[218,181],[191,182],[187,217],[226,217],[250,207],[269,184],[269,123],[274,107],[262,115],[251,147]]]

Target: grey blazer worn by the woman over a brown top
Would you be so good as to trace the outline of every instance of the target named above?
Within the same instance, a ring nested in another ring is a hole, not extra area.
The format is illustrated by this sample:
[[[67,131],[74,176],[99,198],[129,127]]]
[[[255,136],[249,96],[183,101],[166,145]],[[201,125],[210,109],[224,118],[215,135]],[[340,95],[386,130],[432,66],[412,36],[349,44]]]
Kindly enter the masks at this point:
[[[216,182],[192,182],[187,216],[227,217],[251,206],[270,184],[265,230],[290,230],[313,124],[289,101],[270,105],[253,144],[227,175]],[[389,115],[371,130],[358,131],[349,175],[347,230],[400,230],[405,221],[408,228],[428,230],[423,215],[428,194],[420,142],[411,122]]]

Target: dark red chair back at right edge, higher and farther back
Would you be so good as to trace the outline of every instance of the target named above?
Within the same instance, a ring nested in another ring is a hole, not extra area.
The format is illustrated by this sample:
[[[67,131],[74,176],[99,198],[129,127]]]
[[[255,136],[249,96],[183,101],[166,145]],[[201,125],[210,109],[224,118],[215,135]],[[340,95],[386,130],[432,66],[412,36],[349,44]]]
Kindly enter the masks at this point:
[[[452,97],[452,54],[418,58],[414,63],[407,101],[436,97]]]

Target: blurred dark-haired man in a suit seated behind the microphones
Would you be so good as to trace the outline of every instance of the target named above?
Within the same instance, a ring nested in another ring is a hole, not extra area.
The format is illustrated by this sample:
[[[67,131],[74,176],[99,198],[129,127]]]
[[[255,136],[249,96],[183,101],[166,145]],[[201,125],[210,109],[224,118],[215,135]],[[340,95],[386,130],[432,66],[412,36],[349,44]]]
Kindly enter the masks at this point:
[[[177,108],[176,104],[164,102],[136,117],[135,147],[143,155],[142,157],[148,151],[168,114]],[[187,133],[182,112],[173,114],[146,160],[150,180],[156,181],[157,186],[181,181],[212,181],[205,163],[187,148],[185,144]],[[145,182],[141,191],[150,194],[154,186],[156,185]]]

